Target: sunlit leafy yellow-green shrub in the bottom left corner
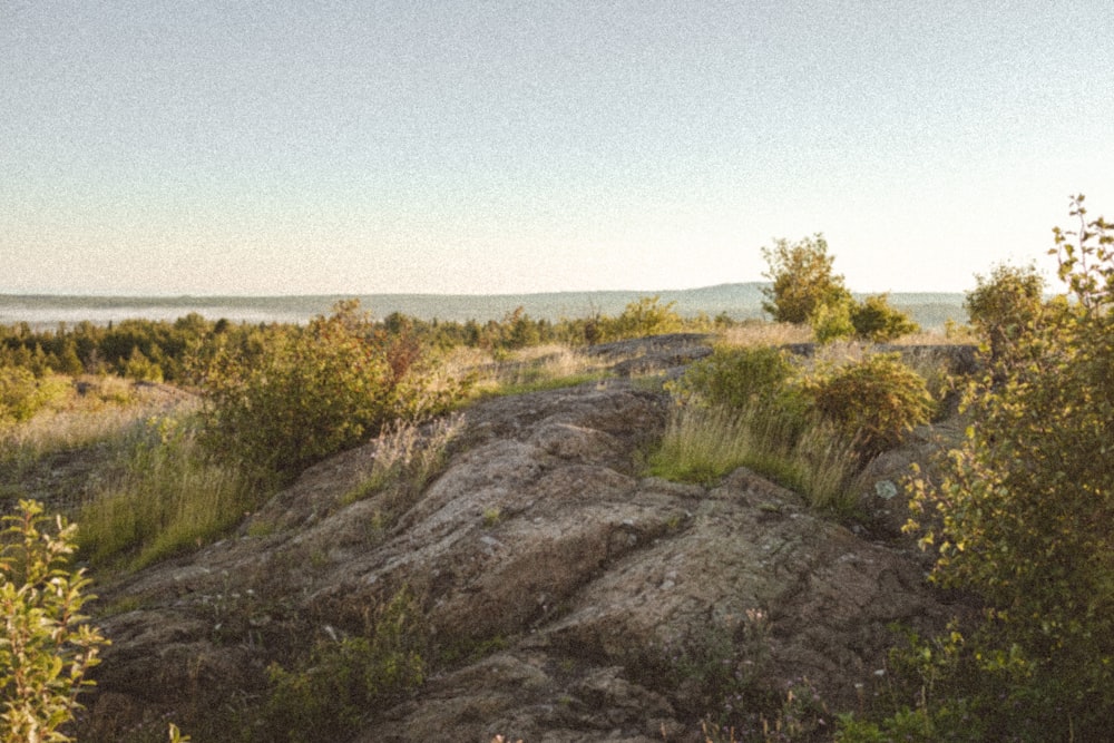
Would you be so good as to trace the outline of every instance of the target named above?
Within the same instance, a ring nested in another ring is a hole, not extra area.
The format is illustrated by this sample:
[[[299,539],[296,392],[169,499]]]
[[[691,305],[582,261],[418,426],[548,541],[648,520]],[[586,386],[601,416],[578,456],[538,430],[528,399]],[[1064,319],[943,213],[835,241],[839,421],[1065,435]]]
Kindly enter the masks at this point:
[[[76,527],[58,517],[40,530],[42,506],[22,500],[0,540],[0,740],[71,741],[62,729],[80,708],[87,672],[107,641],[85,623],[84,570],[67,569]]]

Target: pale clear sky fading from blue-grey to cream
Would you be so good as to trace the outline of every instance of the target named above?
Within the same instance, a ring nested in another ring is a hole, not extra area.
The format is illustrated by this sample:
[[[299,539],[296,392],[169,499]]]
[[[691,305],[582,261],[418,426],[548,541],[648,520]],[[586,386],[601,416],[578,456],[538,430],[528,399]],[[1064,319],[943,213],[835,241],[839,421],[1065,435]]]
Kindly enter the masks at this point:
[[[1114,216],[1110,0],[0,0],[0,293],[861,292]],[[1104,212],[1105,209],[1105,212]]]

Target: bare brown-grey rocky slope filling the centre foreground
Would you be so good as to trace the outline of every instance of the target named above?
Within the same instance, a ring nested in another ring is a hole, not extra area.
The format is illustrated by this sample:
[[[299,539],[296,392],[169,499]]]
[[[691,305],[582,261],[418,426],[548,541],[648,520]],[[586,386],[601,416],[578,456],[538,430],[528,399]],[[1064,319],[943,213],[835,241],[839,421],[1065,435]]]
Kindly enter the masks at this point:
[[[625,369],[684,363],[706,353],[698,341]],[[771,695],[807,680],[853,708],[885,674],[890,625],[955,612],[893,531],[900,498],[873,489],[931,448],[925,436],[876,463],[863,502],[878,518],[849,528],[745,469],[714,488],[643,477],[667,414],[659,385],[619,378],[468,409],[417,492],[345,505],[375,442],[306,471],[236,536],[99,587],[113,645],[87,737],[164,716],[192,732],[257,694],[270,662],[362,632],[403,586],[432,645],[460,659],[358,741],[688,741],[730,703],[712,683],[729,677]]]

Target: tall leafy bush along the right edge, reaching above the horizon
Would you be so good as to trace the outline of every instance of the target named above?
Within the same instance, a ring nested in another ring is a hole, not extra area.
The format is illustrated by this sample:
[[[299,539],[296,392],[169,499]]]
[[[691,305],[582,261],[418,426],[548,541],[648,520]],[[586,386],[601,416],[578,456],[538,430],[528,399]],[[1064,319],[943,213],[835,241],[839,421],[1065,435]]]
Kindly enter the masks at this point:
[[[1114,225],[1085,214],[1056,233],[1074,301],[1006,336],[1016,363],[968,390],[941,479],[913,482],[935,579],[986,607],[939,694],[974,685],[1004,740],[1106,740],[1114,717]]]

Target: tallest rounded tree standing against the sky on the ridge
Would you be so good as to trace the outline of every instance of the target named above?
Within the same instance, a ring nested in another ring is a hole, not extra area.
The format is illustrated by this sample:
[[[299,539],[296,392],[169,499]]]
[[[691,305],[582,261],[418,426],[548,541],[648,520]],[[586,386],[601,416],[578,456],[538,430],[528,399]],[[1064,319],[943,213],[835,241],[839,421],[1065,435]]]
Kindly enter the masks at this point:
[[[762,275],[773,282],[762,290],[762,309],[778,322],[805,323],[818,307],[851,299],[843,276],[832,273],[834,256],[819,233],[793,244],[779,239],[772,248],[762,248],[762,257],[770,266]]]

